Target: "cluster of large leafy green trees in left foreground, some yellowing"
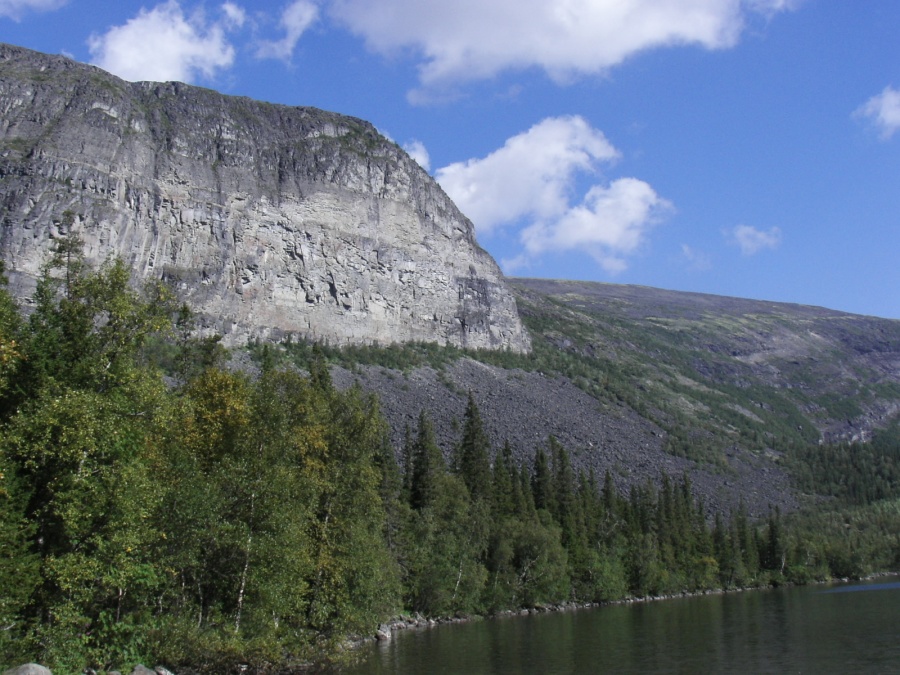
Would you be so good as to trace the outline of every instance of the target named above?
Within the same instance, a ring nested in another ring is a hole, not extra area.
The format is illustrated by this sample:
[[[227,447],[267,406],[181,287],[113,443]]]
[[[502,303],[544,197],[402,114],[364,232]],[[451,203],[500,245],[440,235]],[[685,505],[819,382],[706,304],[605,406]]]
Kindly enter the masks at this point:
[[[329,659],[396,607],[376,402],[315,364],[218,370],[188,321],[68,240],[27,324],[0,311],[4,662]],[[153,365],[165,330],[176,389]]]

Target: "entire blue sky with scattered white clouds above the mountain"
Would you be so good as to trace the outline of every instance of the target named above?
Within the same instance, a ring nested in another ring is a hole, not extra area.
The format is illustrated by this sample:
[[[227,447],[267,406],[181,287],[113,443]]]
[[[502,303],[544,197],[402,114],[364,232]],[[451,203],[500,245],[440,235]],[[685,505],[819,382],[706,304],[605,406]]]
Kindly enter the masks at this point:
[[[511,276],[900,319],[895,0],[0,0],[0,41],[372,122]]]

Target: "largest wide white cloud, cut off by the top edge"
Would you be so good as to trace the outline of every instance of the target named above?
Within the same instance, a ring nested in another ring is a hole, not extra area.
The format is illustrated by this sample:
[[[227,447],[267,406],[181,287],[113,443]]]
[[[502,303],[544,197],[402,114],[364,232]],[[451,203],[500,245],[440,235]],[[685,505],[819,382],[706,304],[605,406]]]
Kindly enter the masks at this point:
[[[638,52],[733,46],[748,12],[793,0],[332,0],[377,52],[411,49],[426,87],[538,67],[556,79],[602,73]]]

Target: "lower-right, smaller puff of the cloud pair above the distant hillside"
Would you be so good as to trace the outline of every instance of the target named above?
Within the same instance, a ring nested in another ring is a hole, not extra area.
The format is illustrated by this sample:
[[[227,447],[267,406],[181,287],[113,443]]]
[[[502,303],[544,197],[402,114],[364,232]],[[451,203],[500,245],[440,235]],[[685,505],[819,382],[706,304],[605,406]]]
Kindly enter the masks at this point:
[[[526,227],[521,240],[530,256],[583,250],[607,272],[616,274],[627,267],[625,257],[637,251],[647,230],[670,207],[644,181],[619,178],[609,187],[592,187],[582,204],[556,221]]]

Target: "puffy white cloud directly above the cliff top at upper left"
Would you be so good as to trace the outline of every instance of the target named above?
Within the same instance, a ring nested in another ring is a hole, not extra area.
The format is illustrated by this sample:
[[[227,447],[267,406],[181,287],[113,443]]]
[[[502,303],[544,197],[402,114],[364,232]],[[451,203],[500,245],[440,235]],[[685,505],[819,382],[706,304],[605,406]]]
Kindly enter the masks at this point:
[[[243,23],[243,10],[222,5],[223,18],[186,17],[177,0],[141,9],[121,26],[88,40],[92,63],[126,80],[193,82],[213,77],[234,61],[226,32]]]

